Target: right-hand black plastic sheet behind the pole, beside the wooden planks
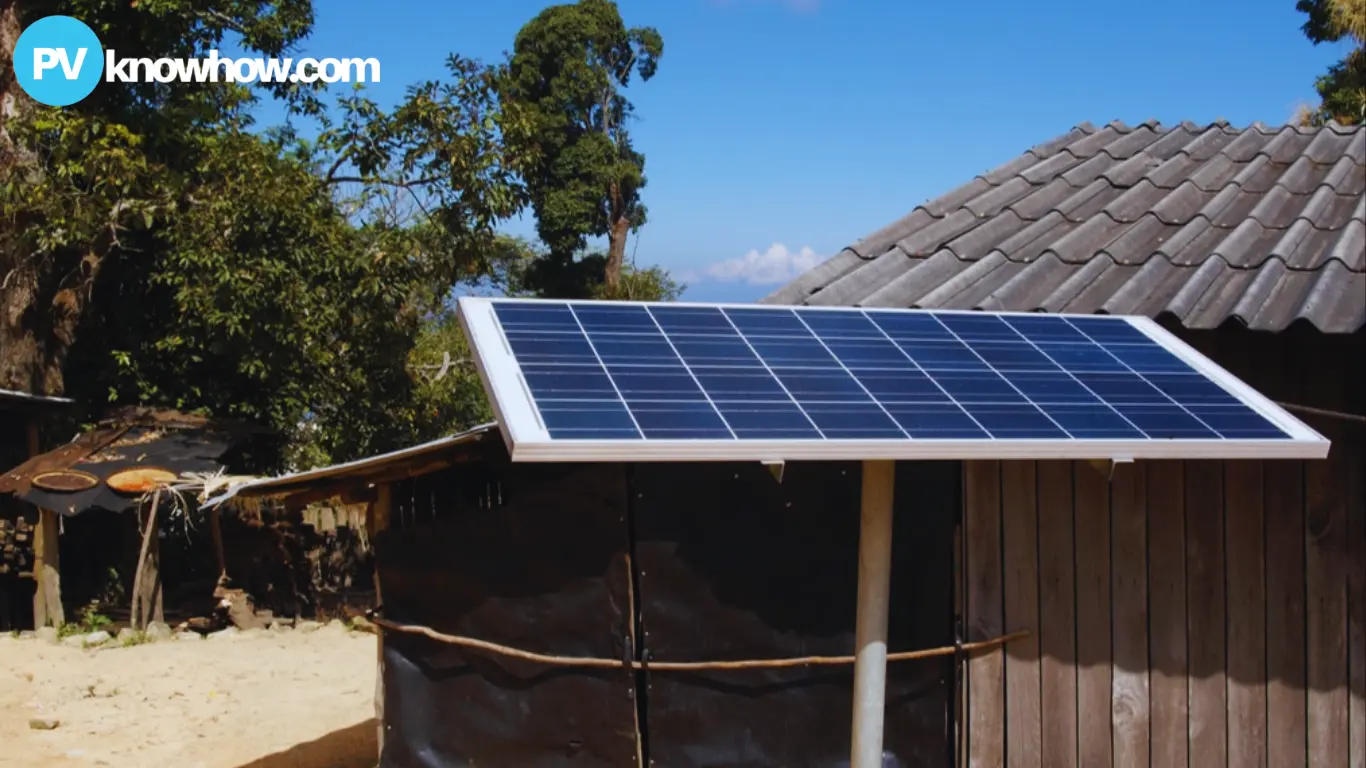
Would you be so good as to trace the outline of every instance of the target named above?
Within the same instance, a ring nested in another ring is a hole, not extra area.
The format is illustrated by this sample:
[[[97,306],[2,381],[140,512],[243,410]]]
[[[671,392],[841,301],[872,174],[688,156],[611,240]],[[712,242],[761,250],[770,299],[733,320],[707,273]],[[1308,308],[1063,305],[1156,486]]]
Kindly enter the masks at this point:
[[[958,465],[897,469],[889,650],[953,644]],[[653,660],[844,656],[858,594],[858,463],[632,469],[641,625]],[[953,661],[889,664],[884,765],[949,765]],[[652,672],[658,767],[847,767],[850,667]]]

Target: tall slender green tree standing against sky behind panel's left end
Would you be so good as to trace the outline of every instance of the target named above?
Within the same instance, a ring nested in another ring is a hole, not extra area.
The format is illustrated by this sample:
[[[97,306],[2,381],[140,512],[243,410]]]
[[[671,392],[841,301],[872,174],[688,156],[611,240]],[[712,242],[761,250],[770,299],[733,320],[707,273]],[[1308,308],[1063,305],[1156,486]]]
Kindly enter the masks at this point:
[[[623,90],[632,74],[650,79],[663,52],[657,30],[627,29],[609,0],[552,5],[516,36],[503,98],[522,120],[510,139],[531,159],[526,184],[549,254],[530,277],[542,295],[620,288],[627,236],[646,216]],[[576,260],[593,236],[608,239],[601,261]]]

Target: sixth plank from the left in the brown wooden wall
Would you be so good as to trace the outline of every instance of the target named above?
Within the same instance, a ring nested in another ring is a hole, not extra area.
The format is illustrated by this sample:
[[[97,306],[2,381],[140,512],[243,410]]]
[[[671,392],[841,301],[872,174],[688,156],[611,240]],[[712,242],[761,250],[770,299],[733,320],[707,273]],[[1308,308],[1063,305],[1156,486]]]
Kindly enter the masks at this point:
[[[1186,493],[1182,462],[1147,465],[1149,701],[1153,765],[1186,765]]]

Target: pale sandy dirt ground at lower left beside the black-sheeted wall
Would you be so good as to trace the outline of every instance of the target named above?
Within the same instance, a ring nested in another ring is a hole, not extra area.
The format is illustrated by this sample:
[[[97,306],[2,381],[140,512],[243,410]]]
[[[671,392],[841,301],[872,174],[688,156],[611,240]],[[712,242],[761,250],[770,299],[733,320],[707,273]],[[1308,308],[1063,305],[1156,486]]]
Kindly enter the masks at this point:
[[[0,765],[373,768],[374,667],[374,635],[342,626],[98,650],[4,635]]]

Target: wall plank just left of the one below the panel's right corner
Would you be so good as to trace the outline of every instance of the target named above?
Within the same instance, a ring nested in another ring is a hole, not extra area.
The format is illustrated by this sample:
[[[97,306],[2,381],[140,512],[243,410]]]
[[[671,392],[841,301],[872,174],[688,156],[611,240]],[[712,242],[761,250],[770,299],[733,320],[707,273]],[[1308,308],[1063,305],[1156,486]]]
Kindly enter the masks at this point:
[[[1266,763],[1305,765],[1305,466],[1266,462]]]

